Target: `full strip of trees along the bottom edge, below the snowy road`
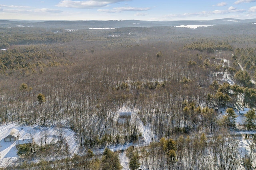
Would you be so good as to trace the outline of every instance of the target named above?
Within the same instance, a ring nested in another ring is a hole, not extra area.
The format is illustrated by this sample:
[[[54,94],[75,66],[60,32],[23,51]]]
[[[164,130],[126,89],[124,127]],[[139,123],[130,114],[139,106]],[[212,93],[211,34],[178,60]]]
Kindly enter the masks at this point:
[[[131,170],[145,168],[151,170],[190,170],[190,169],[238,169],[240,168],[240,155],[238,154],[239,141],[236,137],[228,135],[224,129],[214,135],[204,133],[194,136],[179,136],[176,139],[161,138],[159,142],[151,142],[147,147],[131,146],[124,151],[128,158]],[[248,150],[248,158],[244,161],[244,168],[253,166],[254,156]],[[18,166],[9,166],[9,169],[88,169],[88,170],[120,170],[122,169],[120,157],[122,152],[112,152],[104,149],[101,156],[95,155],[90,149],[83,155],[54,156],[51,159],[41,158],[39,163],[24,159]],[[118,157],[118,155],[120,155]],[[61,159],[60,159],[61,158]],[[50,161],[49,161],[50,160]],[[124,163],[124,162],[123,162]]]

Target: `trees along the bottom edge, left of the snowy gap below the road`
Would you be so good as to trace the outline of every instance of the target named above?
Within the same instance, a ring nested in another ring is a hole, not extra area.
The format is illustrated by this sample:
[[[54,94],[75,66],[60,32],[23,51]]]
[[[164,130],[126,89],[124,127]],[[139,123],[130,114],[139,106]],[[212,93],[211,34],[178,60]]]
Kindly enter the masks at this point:
[[[42,150],[45,152],[45,150]],[[84,170],[121,170],[122,166],[118,158],[118,154],[112,152],[106,148],[102,156],[94,155],[92,150],[88,150],[84,155],[80,156],[75,154],[69,156],[62,154],[58,156],[52,156],[51,158],[40,157],[38,163],[29,162],[27,158],[24,158],[23,162],[17,166],[9,165],[9,169],[13,170],[28,170],[28,169],[49,169],[49,170],[71,170],[71,169],[84,169]]]

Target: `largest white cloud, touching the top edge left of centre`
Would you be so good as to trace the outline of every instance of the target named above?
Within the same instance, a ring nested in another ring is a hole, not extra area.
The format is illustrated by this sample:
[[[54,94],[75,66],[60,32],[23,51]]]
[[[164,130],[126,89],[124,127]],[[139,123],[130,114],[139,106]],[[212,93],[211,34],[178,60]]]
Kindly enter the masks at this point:
[[[66,8],[100,8],[117,2],[126,0],[86,0],[86,1],[72,1],[62,0],[56,6]]]

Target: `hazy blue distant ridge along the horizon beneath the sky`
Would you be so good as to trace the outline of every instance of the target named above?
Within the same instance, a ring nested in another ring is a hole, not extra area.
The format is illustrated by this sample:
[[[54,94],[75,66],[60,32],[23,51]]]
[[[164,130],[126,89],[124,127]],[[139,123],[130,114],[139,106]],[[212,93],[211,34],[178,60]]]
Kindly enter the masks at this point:
[[[204,21],[141,21],[141,20],[78,20],[78,21],[28,21],[28,20],[0,20],[0,27],[45,27],[64,29],[88,29],[88,28],[121,28],[121,27],[157,27],[179,25],[232,25],[256,23],[256,19],[238,20],[223,18]]]

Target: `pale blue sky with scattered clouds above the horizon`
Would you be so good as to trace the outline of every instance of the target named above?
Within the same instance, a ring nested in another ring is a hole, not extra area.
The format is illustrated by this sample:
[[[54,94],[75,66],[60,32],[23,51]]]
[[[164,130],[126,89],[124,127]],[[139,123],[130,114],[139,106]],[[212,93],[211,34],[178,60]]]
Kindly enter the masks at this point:
[[[1,0],[0,19],[212,20],[256,18],[256,0]]]

